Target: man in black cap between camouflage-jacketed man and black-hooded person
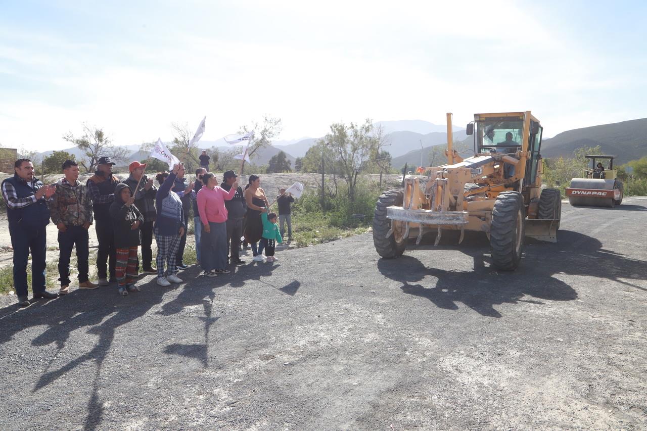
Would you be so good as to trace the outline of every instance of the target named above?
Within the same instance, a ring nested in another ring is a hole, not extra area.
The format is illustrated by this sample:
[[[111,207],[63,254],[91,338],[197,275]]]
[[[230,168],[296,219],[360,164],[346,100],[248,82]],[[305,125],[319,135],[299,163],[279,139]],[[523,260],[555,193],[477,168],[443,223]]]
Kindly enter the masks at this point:
[[[110,219],[110,205],[115,201],[115,187],[119,184],[119,180],[113,175],[114,164],[110,157],[99,157],[94,175],[87,180],[87,190],[92,198],[94,211],[96,239],[99,241],[96,269],[100,286],[116,282],[115,232]],[[109,261],[108,267],[106,267],[106,261]],[[108,276],[110,276],[109,279]]]

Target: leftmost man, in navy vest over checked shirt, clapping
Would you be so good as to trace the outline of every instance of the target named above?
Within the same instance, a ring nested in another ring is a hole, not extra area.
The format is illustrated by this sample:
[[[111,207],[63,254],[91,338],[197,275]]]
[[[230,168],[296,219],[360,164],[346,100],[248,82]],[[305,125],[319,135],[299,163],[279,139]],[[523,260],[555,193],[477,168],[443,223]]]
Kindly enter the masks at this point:
[[[56,188],[43,186],[34,177],[34,165],[29,159],[14,163],[14,176],[2,182],[2,195],[6,204],[9,234],[14,249],[14,287],[18,304],[27,307],[27,260],[32,253],[32,292],[34,299],[56,298],[56,293],[45,290],[45,254],[49,223],[47,201]]]

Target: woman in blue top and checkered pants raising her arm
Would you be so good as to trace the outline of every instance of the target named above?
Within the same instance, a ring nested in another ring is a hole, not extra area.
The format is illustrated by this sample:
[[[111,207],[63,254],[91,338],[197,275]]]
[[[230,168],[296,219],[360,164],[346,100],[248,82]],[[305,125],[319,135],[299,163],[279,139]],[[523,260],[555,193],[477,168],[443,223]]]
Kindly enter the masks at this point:
[[[153,232],[155,232],[155,242],[157,242],[157,284],[160,286],[170,286],[171,283],[182,283],[175,273],[175,256],[180,248],[180,241],[186,230],[184,225],[184,210],[182,210],[182,201],[177,193],[171,188],[177,177],[177,171],[182,164],[173,166],[170,175],[164,179],[164,174],[158,173],[157,179],[160,182],[160,188],[155,195],[155,208],[157,209],[157,219]],[[166,266],[166,271],[164,271]]]

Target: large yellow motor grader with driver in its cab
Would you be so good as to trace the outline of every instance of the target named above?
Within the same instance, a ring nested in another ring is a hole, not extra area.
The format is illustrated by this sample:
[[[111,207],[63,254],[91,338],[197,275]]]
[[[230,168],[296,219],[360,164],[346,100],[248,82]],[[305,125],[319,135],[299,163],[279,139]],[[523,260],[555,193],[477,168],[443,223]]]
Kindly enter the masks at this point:
[[[518,267],[525,236],[557,241],[562,213],[559,190],[542,190],[543,127],[530,111],[475,114],[466,127],[474,155],[454,148],[452,114],[447,114],[447,163],[420,166],[405,175],[402,188],[382,193],[375,206],[373,243],[384,258],[401,256],[408,239],[419,244],[425,232],[484,232],[492,262],[504,271]]]

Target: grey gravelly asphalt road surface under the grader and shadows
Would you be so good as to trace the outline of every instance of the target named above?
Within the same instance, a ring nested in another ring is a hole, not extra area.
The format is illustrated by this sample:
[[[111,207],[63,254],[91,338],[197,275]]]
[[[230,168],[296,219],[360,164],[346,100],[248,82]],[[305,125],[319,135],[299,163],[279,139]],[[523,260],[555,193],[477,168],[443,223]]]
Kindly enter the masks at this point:
[[[397,260],[364,234],[125,298],[5,296],[0,429],[645,429],[646,222],[646,198],[564,203],[508,273],[483,234]]]

